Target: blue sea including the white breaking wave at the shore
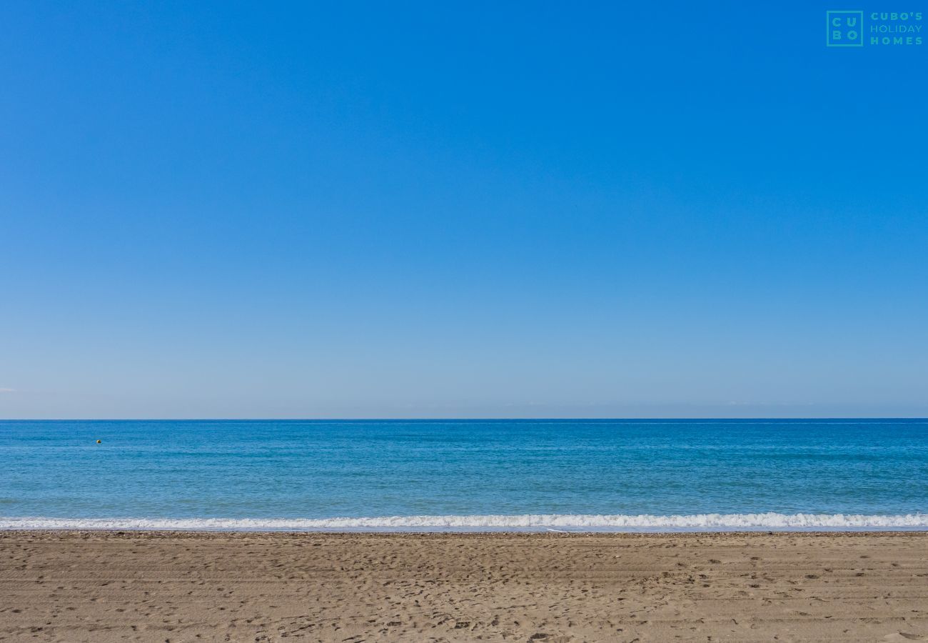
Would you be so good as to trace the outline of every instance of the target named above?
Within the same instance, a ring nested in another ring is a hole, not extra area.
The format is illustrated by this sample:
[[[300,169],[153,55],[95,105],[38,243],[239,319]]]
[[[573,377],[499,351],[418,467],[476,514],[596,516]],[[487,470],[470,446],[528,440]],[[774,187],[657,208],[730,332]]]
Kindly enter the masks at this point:
[[[928,421],[2,421],[0,528],[924,530]]]

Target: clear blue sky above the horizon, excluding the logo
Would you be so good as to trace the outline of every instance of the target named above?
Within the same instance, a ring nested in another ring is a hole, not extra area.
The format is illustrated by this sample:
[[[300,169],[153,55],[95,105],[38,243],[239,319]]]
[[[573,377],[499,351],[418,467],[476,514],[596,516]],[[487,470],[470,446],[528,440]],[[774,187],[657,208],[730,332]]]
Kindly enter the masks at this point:
[[[928,415],[928,42],[831,8],[5,2],[0,417]]]

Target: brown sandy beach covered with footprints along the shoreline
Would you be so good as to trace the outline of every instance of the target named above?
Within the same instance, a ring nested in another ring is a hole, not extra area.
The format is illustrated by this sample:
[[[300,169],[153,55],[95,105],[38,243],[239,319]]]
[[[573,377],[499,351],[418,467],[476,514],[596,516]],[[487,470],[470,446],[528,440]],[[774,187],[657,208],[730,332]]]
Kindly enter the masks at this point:
[[[0,532],[0,639],[928,640],[928,534]]]

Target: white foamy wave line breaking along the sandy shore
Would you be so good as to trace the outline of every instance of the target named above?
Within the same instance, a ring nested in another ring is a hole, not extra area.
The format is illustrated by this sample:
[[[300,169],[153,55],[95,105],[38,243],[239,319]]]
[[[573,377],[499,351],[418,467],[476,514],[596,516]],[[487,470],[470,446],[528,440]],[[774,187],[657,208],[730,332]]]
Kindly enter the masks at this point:
[[[926,530],[928,514],[522,515],[381,518],[3,518],[0,530],[754,531]]]

